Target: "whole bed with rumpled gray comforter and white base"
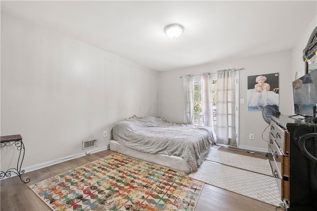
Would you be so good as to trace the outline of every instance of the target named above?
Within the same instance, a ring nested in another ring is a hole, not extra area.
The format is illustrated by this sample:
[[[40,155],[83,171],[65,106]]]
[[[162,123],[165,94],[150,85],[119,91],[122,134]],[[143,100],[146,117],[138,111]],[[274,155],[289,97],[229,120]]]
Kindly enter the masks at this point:
[[[133,116],[112,128],[110,150],[185,173],[197,170],[215,144],[211,128]]]

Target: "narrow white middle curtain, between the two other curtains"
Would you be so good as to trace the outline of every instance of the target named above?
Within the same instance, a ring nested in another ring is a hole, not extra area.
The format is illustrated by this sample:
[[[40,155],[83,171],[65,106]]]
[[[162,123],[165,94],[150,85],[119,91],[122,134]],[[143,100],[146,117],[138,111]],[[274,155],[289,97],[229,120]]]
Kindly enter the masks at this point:
[[[203,122],[212,130],[214,141],[216,136],[213,132],[213,115],[212,115],[212,79],[210,73],[203,73],[201,76],[203,90]]]

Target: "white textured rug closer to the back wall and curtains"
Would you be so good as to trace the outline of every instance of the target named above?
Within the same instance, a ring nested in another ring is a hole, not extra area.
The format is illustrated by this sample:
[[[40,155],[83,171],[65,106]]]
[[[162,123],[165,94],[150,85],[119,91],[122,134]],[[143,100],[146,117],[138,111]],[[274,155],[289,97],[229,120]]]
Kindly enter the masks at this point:
[[[206,160],[273,176],[268,159],[253,158],[221,150],[210,150]]]

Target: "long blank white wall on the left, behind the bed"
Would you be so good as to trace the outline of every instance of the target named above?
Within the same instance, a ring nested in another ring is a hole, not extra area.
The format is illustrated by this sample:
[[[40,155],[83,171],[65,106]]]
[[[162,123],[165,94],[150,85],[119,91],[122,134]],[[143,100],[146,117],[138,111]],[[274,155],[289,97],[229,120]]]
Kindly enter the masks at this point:
[[[21,134],[23,167],[106,148],[113,124],[158,116],[159,74],[1,12],[1,136]],[[1,170],[17,151],[1,148]],[[61,159],[62,160],[62,159]]]

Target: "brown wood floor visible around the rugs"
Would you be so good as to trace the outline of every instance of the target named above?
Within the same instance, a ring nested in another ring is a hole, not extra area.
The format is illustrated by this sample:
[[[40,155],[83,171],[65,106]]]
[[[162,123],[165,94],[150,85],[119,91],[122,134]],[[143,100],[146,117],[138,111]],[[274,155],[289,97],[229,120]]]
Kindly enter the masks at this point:
[[[244,150],[225,147],[221,147],[219,150],[256,158],[265,158],[264,153],[251,155]],[[103,158],[112,153],[112,151],[106,150],[25,173],[23,175],[23,178],[31,179],[28,184],[24,184],[23,182],[21,182],[20,178],[17,176],[1,180],[0,210],[51,211],[51,209],[29,188],[29,185],[35,184],[75,167],[85,165],[93,160]],[[205,184],[195,210],[274,211],[275,207],[230,191]]]

